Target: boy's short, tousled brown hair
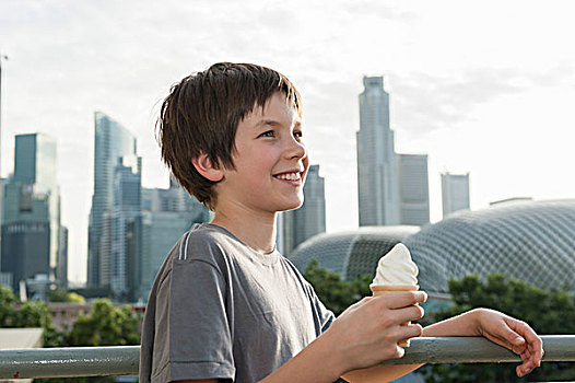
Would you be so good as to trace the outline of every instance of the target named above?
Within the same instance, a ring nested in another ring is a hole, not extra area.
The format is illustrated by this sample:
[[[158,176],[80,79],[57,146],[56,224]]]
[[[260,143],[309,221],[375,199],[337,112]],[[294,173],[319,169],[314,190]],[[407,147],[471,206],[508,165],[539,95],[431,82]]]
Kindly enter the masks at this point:
[[[191,159],[206,153],[218,166],[234,169],[237,125],[275,93],[302,115],[301,96],[283,74],[253,63],[214,63],[172,86],[156,123],[162,160],[179,184],[209,209],[216,182],[203,177]]]

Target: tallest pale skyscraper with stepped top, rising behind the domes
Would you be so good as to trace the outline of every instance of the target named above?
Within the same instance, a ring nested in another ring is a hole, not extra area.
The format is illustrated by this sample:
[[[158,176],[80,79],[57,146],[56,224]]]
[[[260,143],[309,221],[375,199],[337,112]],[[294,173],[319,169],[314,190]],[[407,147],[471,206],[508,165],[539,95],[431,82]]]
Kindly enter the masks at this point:
[[[383,77],[364,77],[363,84],[356,135],[360,225],[398,224],[398,170],[389,127],[389,94]]]

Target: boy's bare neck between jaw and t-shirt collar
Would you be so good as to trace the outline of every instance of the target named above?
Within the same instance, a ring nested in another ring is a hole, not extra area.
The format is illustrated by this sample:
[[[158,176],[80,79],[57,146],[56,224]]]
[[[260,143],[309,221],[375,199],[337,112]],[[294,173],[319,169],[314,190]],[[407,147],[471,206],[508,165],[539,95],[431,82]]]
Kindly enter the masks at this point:
[[[256,252],[268,254],[275,248],[275,212],[216,207],[211,223],[225,228]]]

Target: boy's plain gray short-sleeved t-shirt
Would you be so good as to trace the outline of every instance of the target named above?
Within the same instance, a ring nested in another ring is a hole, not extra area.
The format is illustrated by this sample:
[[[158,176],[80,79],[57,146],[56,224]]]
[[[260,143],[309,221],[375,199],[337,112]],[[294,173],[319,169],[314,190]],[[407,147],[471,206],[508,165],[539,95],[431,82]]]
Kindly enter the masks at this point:
[[[256,382],[333,320],[278,251],[259,254],[221,227],[195,225],[169,252],[150,292],[140,382]]]

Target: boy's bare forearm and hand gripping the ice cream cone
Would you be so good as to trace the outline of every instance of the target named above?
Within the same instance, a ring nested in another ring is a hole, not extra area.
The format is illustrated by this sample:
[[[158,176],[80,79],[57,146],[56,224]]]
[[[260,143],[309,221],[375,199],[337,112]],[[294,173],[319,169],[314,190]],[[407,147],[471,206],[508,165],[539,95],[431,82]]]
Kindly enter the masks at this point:
[[[364,298],[262,383],[333,382],[350,370],[400,358],[403,349],[397,346],[398,341],[422,332],[420,325],[401,324],[423,316],[423,310],[414,304],[425,299],[422,291]]]

